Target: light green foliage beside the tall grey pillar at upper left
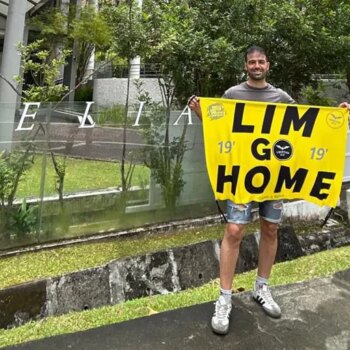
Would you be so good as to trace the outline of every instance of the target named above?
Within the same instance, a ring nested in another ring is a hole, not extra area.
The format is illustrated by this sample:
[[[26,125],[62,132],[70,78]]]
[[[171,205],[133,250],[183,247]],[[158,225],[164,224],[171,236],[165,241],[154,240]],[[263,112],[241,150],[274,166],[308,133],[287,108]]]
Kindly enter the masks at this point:
[[[24,73],[33,80],[24,89],[27,101],[57,101],[62,98],[67,88],[55,83],[73,47],[78,85],[85,77],[93,51],[106,51],[111,44],[110,26],[93,6],[77,8],[72,5],[63,12],[50,8],[34,16],[30,25],[36,40],[27,48],[20,47],[25,61]],[[43,98],[40,99],[40,96]]]

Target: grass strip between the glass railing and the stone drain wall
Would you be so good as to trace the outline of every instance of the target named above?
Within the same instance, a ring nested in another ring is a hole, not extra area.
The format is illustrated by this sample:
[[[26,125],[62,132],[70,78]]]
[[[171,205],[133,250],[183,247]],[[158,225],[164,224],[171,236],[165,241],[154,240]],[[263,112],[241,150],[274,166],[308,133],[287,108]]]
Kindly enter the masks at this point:
[[[219,239],[222,231],[221,225],[205,229],[197,227],[190,230],[79,244],[0,258],[0,288],[101,266],[108,261],[127,256]]]

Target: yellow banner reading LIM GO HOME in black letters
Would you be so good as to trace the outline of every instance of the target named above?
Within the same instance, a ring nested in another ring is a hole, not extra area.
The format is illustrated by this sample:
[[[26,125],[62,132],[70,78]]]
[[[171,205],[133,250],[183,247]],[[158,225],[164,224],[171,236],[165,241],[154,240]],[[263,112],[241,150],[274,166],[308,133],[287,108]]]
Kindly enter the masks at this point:
[[[218,200],[305,199],[335,207],[345,162],[345,108],[200,98]]]

